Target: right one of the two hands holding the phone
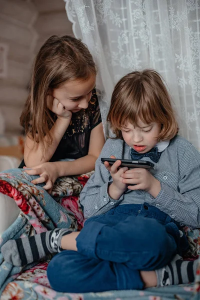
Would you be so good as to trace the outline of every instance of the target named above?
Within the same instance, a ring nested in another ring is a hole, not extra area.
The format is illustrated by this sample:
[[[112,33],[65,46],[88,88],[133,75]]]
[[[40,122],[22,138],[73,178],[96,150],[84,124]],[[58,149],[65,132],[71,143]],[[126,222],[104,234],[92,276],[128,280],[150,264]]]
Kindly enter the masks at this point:
[[[154,198],[161,190],[160,182],[145,168],[132,168],[121,174],[122,182],[132,190],[143,189],[149,192]]]

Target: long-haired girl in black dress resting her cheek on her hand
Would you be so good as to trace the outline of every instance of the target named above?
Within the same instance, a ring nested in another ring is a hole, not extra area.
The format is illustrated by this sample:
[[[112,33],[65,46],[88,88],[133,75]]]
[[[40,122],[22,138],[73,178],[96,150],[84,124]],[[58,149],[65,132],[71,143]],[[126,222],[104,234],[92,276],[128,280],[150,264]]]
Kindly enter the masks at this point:
[[[32,183],[45,182],[48,192],[57,177],[94,169],[104,144],[95,79],[91,54],[72,36],[51,36],[35,58],[20,117],[26,140],[19,167],[31,167],[26,172],[40,176]]]

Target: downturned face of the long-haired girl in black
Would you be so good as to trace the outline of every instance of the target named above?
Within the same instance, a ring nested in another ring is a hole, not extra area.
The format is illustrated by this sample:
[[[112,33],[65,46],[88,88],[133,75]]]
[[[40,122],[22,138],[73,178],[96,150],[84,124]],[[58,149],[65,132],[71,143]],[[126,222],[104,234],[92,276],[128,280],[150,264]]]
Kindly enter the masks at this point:
[[[52,96],[56,98],[66,110],[77,112],[85,109],[91,99],[92,89],[95,87],[95,76],[86,80],[67,80],[58,88],[54,88]]]

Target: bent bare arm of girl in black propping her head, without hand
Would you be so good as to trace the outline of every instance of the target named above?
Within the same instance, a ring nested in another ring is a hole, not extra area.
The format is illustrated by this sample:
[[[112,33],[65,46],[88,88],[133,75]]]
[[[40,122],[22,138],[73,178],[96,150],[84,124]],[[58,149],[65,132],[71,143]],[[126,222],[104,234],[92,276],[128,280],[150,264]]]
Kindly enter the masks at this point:
[[[27,167],[38,165],[42,162],[49,161],[55,149],[57,148],[66,128],[70,123],[69,118],[57,118],[55,124],[50,129],[52,143],[49,144],[47,137],[44,137],[44,151],[42,152],[41,144],[34,142],[30,137],[26,136],[24,146],[24,162]]]

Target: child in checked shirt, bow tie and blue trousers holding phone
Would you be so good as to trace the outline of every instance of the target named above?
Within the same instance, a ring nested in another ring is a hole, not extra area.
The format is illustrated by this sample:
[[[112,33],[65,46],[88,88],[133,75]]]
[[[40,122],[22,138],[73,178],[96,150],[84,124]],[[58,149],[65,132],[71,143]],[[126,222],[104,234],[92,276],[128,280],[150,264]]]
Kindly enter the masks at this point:
[[[83,229],[54,229],[23,244],[36,244],[38,258],[43,252],[60,252],[47,268],[50,285],[58,291],[142,289],[193,281],[197,260],[179,256],[188,247],[180,228],[200,226],[200,153],[177,135],[160,75],[147,69],[121,78],[107,120],[116,138],[107,139],[81,192],[87,218]],[[119,159],[110,166],[103,165],[101,157]],[[122,158],[153,162],[154,169],[119,168]],[[23,265],[24,256],[31,262],[27,248],[10,240],[1,251],[6,261]]]

